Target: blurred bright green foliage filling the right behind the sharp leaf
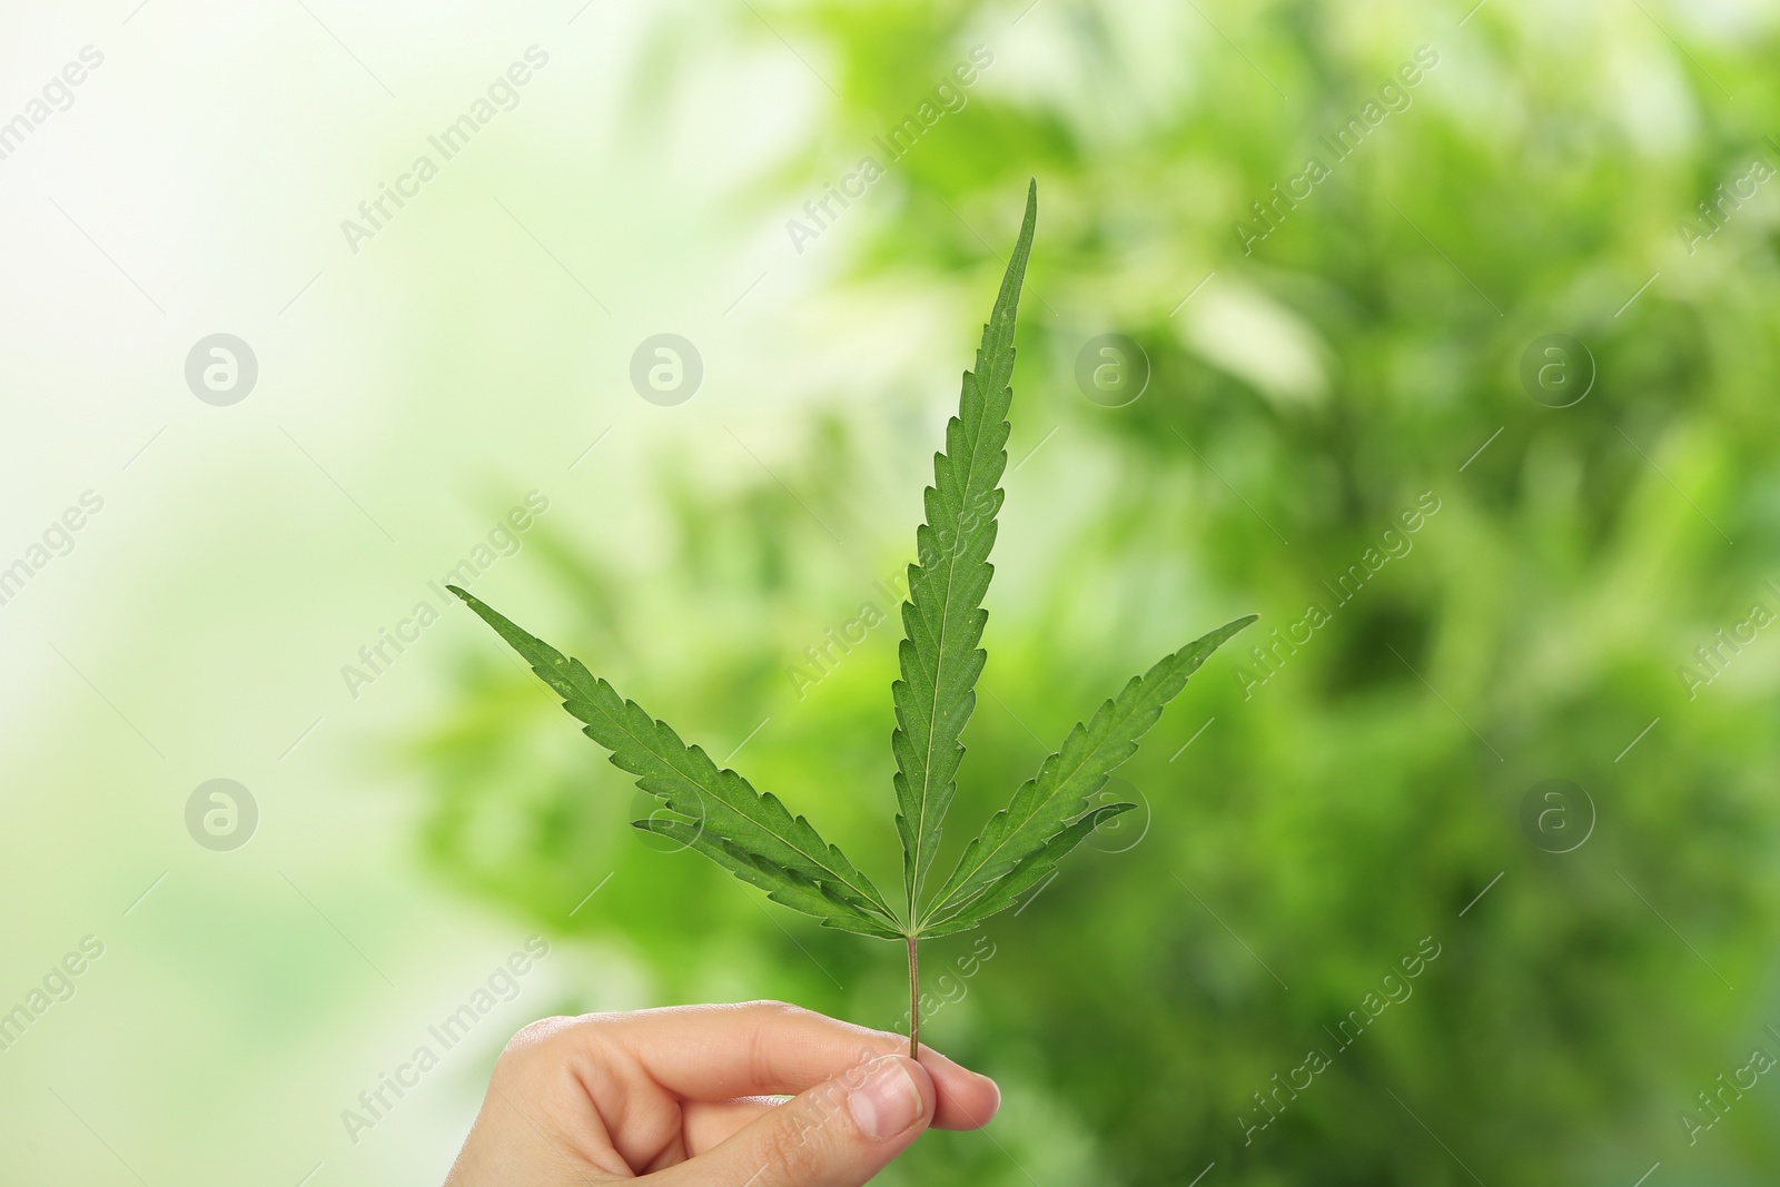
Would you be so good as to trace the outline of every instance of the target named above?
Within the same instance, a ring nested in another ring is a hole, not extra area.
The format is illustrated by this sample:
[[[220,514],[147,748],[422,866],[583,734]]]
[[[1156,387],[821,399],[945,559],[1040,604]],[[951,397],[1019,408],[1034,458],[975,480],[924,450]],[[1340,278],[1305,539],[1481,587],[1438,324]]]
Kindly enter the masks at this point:
[[[1696,696],[1677,671],[1703,673],[1695,650],[1773,607],[1780,577],[1780,190],[1691,254],[1679,230],[1750,160],[1780,164],[1773,18],[1490,4],[1460,25],[1467,7],[849,0],[737,18],[838,93],[808,151],[740,198],[764,219],[796,217],[972,44],[995,55],[808,247],[847,262],[837,288],[986,310],[995,246],[1040,180],[1013,456],[1043,448],[1009,479],[951,851],[1162,650],[1251,609],[1253,632],[1328,609],[1308,642],[1262,658],[1248,648],[1273,635],[1244,637],[1194,678],[1123,772],[1152,808],[1141,840],[993,920],[993,959],[931,1038],[1002,1077],[1004,1119],[995,1141],[926,1139],[886,1182],[1780,1169],[1766,1082],[1696,1144],[1680,1125],[1712,1119],[1696,1094],[1753,1045],[1780,1050],[1760,1030],[1780,1025],[1780,667],[1762,635]],[[1417,46],[1438,66],[1408,107],[1244,253],[1251,203]],[[1120,409],[1073,379],[1105,331],[1152,367]],[[974,333],[918,349],[961,370]],[[1547,333],[1598,370],[1572,408],[1522,390]],[[664,457],[666,555],[602,555],[552,521],[502,609],[714,755],[767,719],[735,765],[892,884],[894,614],[801,694],[790,673],[862,603],[890,609],[872,582],[910,559],[954,395],[837,393],[783,484],[719,488]],[[1340,603],[1330,587],[1424,493],[1438,513],[1412,548]],[[773,995],[899,1025],[892,945],[651,852],[623,826],[625,778],[472,642],[424,742],[445,876],[634,952],[659,1000]],[[1549,778],[1598,815],[1572,852],[1522,820]],[[1413,993],[1344,1048],[1337,1027],[1424,938],[1440,954]],[[931,945],[929,968],[970,945]],[[1257,1093],[1310,1050],[1330,1066],[1264,1112]]]

